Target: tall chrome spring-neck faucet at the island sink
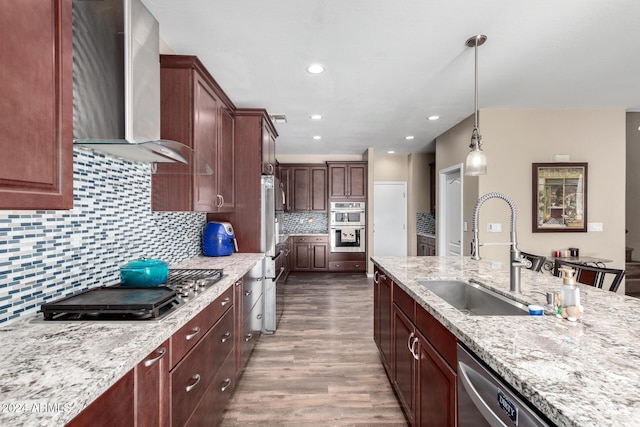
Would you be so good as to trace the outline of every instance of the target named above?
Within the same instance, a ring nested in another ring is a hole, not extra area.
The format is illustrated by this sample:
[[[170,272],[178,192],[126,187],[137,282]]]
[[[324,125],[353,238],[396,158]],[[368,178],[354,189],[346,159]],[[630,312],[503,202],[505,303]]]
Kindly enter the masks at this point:
[[[480,243],[480,238],[478,237],[478,213],[480,212],[480,206],[484,202],[489,199],[500,199],[504,200],[509,207],[511,208],[511,241],[508,243]],[[518,243],[516,238],[516,205],[511,201],[509,197],[502,193],[487,193],[484,196],[480,197],[476,202],[476,206],[473,209],[473,241],[471,242],[471,258],[475,260],[480,259],[480,246],[485,245],[510,245],[510,270],[509,270],[509,280],[510,280],[510,291],[519,294],[520,293],[520,268],[531,267],[531,261],[524,259],[520,256],[520,251],[518,250]]]

